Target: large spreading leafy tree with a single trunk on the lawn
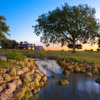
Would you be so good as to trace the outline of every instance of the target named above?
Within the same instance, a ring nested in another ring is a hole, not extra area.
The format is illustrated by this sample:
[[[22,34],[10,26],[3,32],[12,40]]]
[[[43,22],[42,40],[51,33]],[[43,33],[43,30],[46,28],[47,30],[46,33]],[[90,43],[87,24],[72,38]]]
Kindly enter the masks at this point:
[[[50,43],[75,44],[94,43],[99,34],[99,20],[95,17],[95,9],[88,5],[69,6],[65,4],[37,19],[33,26],[37,36],[40,35],[41,42],[49,46]]]

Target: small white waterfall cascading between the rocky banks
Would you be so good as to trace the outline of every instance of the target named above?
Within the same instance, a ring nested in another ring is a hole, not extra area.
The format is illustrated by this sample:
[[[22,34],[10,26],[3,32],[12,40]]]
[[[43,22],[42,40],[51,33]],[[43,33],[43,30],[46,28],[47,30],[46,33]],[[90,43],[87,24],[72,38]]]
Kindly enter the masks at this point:
[[[38,69],[43,72],[46,76],[52,76],[55,74],[62,74],[61,67],[57,64],[56,60],[42,60],[34,59],[38,65]]]

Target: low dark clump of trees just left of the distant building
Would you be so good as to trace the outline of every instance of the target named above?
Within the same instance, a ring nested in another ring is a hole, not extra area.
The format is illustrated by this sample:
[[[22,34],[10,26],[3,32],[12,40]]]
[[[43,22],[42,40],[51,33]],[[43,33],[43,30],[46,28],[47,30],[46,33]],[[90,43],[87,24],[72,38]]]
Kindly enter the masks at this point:
[[[18,47],[18,43],[15,40],[2,39],[1,46],[4,49],[16,49]]]

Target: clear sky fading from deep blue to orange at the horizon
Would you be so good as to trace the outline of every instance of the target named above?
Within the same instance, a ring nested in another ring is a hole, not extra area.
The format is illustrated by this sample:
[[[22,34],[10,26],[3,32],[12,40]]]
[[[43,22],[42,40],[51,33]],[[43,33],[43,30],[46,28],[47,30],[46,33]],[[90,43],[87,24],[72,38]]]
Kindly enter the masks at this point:
[[[0,15],[6,17],[7,25],[10,26],[9,39],[17,42],[28,41],[36,45],[42,45],[40,37],[33,33],[33,25],[36,25],[38,16],[60,7],[64,3],[69,5],[88,4],[96,9],[96,18],[100,19],[100,0],[0,0]],[[68,50],[67,45],[50,45],[46,50]],[[86,44],[84,49],[97,49],[97,45]]]

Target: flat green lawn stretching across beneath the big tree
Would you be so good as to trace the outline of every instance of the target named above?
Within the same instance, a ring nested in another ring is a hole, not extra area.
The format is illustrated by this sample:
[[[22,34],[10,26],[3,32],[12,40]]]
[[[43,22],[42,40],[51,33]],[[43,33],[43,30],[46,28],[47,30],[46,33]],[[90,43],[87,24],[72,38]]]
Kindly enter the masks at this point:
[[[14,50],[5,50],[0,49],[0,54],[9,53]],[[100,63],[100,52],[91,52],[91,51],[78,51],[75,54],[71,51],[40,51],[40,50],[17,50],[22,52],[27,57],[44,57],[44,56],[53,56],[60,58],[77,58],[78,60],[86,60],[90,62]]]

